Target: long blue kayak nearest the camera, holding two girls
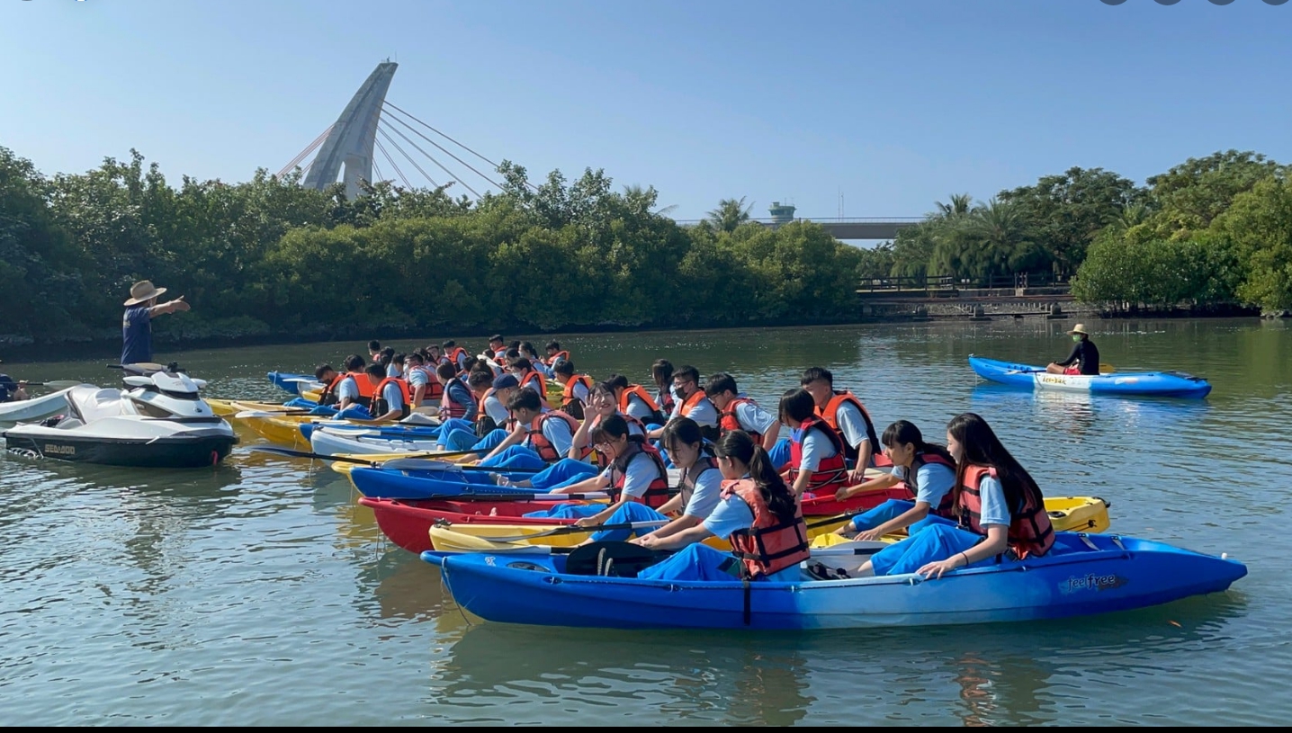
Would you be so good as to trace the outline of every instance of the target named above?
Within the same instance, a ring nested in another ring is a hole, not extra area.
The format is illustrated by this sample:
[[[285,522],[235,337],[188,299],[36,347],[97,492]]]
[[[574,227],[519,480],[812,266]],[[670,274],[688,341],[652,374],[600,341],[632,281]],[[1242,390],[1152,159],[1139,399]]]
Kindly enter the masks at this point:
[[[1063,618],[1220,592],[1247,574],[1236,561],[1147,539],[1058,533],[1045,557],[917,574],[802,582],[651,581],[565,573],[552,548],[421,554],[453,600],[506,623],[606,628],[858,628]],[[1087,545],[1089,542],[1089,546]],[[1093,548],[1092,548],[1093,546]],[[832,554],[832,550],[840,550]],[[873,550],[871,550],[873,551]],[[848,545],[814,550],[832,567]],[[1026,572],[1023,572],[1026,570]]]

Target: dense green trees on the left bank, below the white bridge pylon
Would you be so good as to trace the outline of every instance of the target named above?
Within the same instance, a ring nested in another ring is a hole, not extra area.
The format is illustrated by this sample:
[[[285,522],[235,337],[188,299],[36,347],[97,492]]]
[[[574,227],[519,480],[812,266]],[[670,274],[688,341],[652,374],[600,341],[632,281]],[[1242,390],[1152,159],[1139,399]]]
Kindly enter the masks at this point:
[[[0,343],[120,338],[130,283],[194,310],[158,337],[328,337],[474,329],[711,326],[845,320],[862,252],[748,209],[680,227],[654,188],[599,170],[501,191],[381,182],[346,200],[298,176],[172,187],[132,151],[47,178],[0,148]],[[169,332],[169,333],[168,333]]]

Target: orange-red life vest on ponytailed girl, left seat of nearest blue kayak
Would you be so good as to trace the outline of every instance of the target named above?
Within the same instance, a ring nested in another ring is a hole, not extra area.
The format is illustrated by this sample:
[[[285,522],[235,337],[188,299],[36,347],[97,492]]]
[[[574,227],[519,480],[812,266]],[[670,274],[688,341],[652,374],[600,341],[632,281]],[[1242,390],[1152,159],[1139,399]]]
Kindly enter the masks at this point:
[[[808,551],[808,525],[798,502],[795,502],[795,520],[786,524],[767,508],[753,479],[722,481],[722,498],[733,494],[749,505],[753,512],[753,525],[733,532],[729,538],[731,554],[744,563],[744,577],[753,579],[771,576],[811,555]]]

